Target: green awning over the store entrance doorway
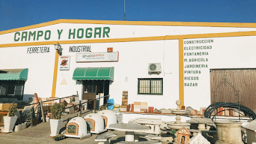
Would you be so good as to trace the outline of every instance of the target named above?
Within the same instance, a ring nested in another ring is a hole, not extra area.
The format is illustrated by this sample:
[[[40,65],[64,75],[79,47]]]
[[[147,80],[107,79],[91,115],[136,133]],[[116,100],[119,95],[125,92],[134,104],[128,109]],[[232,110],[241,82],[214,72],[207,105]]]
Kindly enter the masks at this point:
[[[74,80],[112,80],[114,81],[114,67],[76,68]]]

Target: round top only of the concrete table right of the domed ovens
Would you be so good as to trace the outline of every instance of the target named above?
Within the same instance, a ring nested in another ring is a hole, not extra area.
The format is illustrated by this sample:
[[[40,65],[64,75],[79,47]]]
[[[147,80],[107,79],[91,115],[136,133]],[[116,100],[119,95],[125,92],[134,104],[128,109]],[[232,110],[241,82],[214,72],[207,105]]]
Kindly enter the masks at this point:
[[[111,124],[109,128],[112,130],[118,131],[134,131],[134,132],[142,132],[150,130],[150,127],[146,125],[139,125],[139,124]]]

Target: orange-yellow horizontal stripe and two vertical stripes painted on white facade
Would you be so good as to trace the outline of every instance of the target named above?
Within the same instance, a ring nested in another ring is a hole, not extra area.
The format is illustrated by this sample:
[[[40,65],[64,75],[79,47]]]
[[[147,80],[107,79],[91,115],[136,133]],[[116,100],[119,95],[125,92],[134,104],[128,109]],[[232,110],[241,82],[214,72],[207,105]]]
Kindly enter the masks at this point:
[[[58,21],[58,20],[57,20]],[[53,22],[57,22],[53,21]],[[67,20],[69,21],[69,20]],[[73,22],[73,21],[72,21]],[[104,21],[105,22],[105,21]],[[112,21],[111,21],[112,22]],[[78,23],[79,22],[78,20]],[[145,24],[144,24],[145,25]],[[47,44],[77,44],[77,43],[117,43],[117,42],[128,42],[128,41],[153,41],[153,40],[175,40],[178,39],[179,49],[179,99],[181,105],[184,105],[184,79],[183,79],[183,40],[188,38],[213,38],[213,37],[242,37],[256,35],[256,31],[249,32],[226,32],[216,34],[191,34],[191,35],[167,35],[160,37],[138,37],[138,38],[113,38],[113,39],[102,39],[102,40],[70,40],[70,41],[43,41],[33,43],[14,43],[14,44],[0,44],[0,47],[16,47],[16,46],[38,46]],[[52,97],[55,97],[56,91],[56,77],[58,73],[58,58],[59,55],[55,54],[55,66],[53,73],[53,85],[52,85]]]

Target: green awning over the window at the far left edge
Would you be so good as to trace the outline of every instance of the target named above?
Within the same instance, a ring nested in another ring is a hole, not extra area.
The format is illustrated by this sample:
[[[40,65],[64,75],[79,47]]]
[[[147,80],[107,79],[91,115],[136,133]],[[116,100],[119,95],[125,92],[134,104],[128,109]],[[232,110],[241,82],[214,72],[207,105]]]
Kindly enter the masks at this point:
[[[28,68],[0,70],[0,80],[27,80]]]

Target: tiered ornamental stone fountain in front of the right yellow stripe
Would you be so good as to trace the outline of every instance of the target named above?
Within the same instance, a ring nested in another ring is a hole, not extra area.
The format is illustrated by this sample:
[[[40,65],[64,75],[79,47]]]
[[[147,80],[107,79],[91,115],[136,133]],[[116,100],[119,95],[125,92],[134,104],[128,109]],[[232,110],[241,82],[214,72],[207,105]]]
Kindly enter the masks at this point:
[[[180,104],[181,101],[177,100],[176,101],[177,104],[177,109],[172,110],[172,113],[176,115],[176,121],[170,121],[170,122],[166,122],[167,126],[169,128],[171,128],[172,130],[180,130],[181,128],[186,128],[187,130],[190,129],[190,124],[187,122],[181,122],[181,118],[180,115],[183,115],[184,113],[186,113],[186,110],[181,110],[180,109]],[[174,138],[174,142],[173,143],[177,143],[177,133],[174,134],[175,138]]]

